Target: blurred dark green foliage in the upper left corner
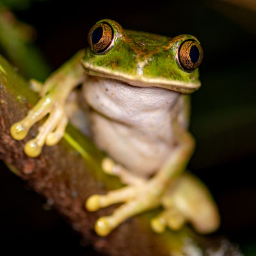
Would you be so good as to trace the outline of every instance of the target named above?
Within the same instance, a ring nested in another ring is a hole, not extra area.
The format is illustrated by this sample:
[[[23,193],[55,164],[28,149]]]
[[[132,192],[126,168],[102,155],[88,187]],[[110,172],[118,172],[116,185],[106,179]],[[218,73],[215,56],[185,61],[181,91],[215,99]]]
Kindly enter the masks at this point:
[[[27,78],[44,80],[49,76],[49,64],[33,44],[36,31],[17,20],[10,10],[0,5],[0,48],[13,65]]]

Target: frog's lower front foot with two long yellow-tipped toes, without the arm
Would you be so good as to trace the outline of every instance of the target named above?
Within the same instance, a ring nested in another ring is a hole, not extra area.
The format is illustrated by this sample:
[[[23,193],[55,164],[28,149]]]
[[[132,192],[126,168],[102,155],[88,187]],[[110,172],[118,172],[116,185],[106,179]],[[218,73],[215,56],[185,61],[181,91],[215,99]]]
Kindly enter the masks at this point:
[[[95,223],[99,236],[107,236],[111,230],[131,216],[154,209],[161,204],[161,188],[153,182],[144,181],[143,185],[127,186],[110,191],[107,195],[92,195],[86,201],[88,211],[97,211],[112,204],[122,203],[110,216],[103,216]]]

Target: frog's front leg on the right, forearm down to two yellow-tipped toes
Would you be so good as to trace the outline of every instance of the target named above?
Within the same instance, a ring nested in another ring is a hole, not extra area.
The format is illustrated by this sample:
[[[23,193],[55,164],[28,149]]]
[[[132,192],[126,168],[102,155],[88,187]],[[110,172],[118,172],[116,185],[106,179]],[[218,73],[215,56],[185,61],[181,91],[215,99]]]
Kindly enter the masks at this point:
[[[89,211],[97,211],[111,204],[125,202],[111,216],[102,217],[97,221],[95,229],[99,235],[106,236],[127,218],[161,205],[160,195],[163,194],[163,189],[168,186],[170,178],[174,179],[186,168],[193,152],[193,138],[187,131],[179,133],[179,147],[152,179],[144,180],[143,184],[130,184],[107,195],[93,195],[88,198],[86,208]],[[122,179],[124,180],[124,177]]]

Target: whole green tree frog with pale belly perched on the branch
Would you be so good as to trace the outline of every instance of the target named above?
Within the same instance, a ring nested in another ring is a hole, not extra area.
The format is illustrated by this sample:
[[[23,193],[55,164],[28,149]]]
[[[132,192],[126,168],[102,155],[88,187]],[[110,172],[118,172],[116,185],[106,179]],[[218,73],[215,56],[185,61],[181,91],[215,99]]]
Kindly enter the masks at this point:
[[[108,236],[132,216],[157,208],[161,211],[150,220],[157,233],[187,222],[199,233],[214,232],[218,207],[206,186],[185,172],[195,148],[188,131],[189,95],[201,86],[200,42],[192,35],[171,38],[102,19],[90,29],[88,43],[43,85],[34,81],[40,100],[12,125],[12,137],[23,140],[48,115],[24,152],[37,157],[44,145],[56,145],[72,116],[68,97],[83,84],[79,93],[88,106],[92,139],[108,154],[102,170],[124,184],[87,198],[85,208],[92,212],[122,203],[96,221],[95,232]]]

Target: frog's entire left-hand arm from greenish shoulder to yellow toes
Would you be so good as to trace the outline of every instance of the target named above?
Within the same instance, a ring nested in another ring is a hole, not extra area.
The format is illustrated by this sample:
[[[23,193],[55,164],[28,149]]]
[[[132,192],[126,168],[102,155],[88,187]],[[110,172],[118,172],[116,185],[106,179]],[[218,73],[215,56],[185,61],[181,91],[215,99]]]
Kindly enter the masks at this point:
[[[23,140],[32,125],[49,114],[44,124],[38,129],[37,136],[26,143],[24,151],[30,157],[36,157],[44,144],[55,145],[61,140],[68,123],[65,114],[65,102],[72,89],[84,80],[81,59],[84,51],[77,54],[45,81],[40,95],[42,99],[31,109],[28,115],[12,125],[10,132],[15,140]]]

